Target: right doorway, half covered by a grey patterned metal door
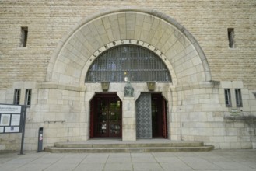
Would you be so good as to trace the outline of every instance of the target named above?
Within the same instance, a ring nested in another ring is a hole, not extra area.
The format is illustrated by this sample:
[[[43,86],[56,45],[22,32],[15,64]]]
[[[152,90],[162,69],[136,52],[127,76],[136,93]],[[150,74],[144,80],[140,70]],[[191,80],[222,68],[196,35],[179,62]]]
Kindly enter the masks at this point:
[[[161,93],[142,92],[137,99],[136,137],[167,138],[167,102]]]

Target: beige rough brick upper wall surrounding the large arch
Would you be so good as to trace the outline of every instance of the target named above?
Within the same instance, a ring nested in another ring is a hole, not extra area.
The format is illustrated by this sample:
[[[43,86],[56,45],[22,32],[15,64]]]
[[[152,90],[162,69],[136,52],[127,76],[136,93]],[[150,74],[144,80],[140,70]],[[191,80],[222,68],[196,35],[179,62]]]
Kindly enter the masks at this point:
[[[251,1],[1,1],[0,88],[16,81],[44,81],[48,61],[75,23],[103,9],[136,6],[176,19],[198,40],[209,61],[212,79],[243,80],[256,86],[256,2]],[[19,47],[20,27],[28,26],[27,47]],[[228,47],[234,28],[236,48]]]

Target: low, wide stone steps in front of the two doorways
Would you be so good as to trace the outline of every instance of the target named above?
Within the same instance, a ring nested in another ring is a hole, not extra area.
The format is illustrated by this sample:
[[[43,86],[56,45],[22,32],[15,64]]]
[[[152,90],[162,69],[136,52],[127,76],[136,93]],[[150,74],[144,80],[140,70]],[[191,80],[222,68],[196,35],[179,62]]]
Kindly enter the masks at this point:
[[[201,141],[170,141],[139,140],[89,140],[82,142],[57,142],[54,147],[44,148],[46,152],[207,152],[212,150],[212,145],[204,145]]]

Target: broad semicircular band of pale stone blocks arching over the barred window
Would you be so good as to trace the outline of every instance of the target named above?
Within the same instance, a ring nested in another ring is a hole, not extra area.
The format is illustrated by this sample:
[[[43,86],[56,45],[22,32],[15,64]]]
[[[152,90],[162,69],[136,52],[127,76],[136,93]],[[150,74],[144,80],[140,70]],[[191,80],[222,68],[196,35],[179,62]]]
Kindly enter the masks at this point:
[[[93,54],[122,40],[138,40],[152,46],[151,51],[160,51],[174,86],[211,80],[205,54],[184,26],[155,10],[123,8],[98,12],[77,23],[55,49],[46,81],[83,86],[96,58]]]

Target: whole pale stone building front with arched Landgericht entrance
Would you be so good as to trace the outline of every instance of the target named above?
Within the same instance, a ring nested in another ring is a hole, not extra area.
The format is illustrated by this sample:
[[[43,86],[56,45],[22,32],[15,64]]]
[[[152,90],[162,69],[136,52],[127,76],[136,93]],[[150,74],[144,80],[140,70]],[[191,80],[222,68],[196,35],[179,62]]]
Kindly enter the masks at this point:
[[[149,139],[255,148],[255,6],[254,0],[2,1],[0,103],[15,103],[18,93],[24,104],[30,96],[26,150],[37,149],[39,127],[44,146],[96,137],[136,141],[149,133]],[[171,79],[135,80],[125,72],[132,96],[125,96],[124,81],[87,82],[96,59],[118,47],[155,54]],[[147,100],[145,121],[140,107]],[[160,121],[153,123],[155,110]],[[118,112],[119,124],[110,124]],[[0,134],[0,150],[19,149],[20,138]]]

